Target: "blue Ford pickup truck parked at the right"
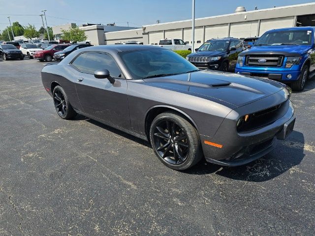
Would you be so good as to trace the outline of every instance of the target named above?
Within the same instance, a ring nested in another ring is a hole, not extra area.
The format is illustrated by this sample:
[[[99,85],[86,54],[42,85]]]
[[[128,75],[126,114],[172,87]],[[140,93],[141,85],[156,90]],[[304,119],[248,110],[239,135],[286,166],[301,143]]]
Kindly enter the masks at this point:
[[[315,27],[293,27],[265,32],[239,54],[235,73],[277,80],[302,91],[315,72],[314,31]]]

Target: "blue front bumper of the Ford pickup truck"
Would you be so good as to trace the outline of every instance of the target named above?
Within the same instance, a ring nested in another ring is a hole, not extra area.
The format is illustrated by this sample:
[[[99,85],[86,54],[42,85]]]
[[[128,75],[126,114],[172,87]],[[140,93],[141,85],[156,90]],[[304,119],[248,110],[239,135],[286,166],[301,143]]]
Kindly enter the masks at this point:
[[[301,71],[295,71],[295,70],[273,71],[273,70],[253,70],[253,69],[247,69],[247,68],[246,69],[235,68],[235,73],[241,74],[241,75],[268,78],[270,80],[276,80],[280,82],[290,82],[290,81],[298,80],[301,74]],[[290,79],[287,77],[288,75],[291,75]]]

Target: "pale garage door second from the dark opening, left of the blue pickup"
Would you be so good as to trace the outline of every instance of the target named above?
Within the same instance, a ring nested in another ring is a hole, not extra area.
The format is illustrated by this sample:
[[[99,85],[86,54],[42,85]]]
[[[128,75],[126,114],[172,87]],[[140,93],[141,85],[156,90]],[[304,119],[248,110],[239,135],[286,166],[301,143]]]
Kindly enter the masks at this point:
[[[257,35],[258,21],[232,23],[230,26],[230,37],[247,38]]]

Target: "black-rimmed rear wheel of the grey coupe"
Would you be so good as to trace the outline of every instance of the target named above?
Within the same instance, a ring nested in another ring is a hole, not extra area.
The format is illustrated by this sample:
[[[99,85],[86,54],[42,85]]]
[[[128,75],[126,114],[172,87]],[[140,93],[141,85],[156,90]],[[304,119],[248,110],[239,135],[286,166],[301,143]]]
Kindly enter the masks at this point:
[[[58,116],[63,119],[73,119],[77,113],[69,103],[68,97],[61,86],[56,86],[53,91],[54,106]]]

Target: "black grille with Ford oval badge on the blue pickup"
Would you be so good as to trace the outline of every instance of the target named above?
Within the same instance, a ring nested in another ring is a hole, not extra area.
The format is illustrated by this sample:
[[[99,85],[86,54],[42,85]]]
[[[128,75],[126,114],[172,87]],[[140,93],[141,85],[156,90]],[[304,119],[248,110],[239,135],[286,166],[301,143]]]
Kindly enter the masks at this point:
[[[280,67],[284,61],[282,55],[248,55],[245,64],[248,66]]]

